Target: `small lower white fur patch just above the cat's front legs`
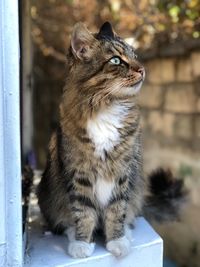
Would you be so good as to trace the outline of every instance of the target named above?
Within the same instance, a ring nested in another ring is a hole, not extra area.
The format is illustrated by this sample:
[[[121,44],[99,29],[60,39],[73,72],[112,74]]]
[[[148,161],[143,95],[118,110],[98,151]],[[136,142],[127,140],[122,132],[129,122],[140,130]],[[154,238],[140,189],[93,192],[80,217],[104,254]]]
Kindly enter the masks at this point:
[[[108,204],[114,188],[114,182],[98,178],[95,185],[95,195],[102,206]]]

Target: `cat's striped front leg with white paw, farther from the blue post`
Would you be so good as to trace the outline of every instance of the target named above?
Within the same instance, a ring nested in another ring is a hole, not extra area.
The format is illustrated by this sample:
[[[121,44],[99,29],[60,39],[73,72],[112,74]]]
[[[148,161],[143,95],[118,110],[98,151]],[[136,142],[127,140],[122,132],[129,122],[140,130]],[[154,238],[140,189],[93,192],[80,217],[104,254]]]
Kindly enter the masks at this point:
[[[130,251],[130,240],[125,227],[126,200],[116,199],[109,205],[105,216],[106,248],[116,257],[126,256]]]

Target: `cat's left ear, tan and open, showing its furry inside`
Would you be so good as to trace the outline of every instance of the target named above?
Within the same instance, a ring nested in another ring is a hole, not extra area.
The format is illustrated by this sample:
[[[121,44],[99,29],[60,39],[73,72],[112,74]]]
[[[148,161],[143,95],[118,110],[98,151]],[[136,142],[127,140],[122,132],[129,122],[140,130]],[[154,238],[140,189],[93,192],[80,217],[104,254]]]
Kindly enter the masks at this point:
[[[75,24],[71,37],[71,48],[75,57],[81,60],[89,59],[92,56],[92,44],[95,41],[94,36],[83,23]]]

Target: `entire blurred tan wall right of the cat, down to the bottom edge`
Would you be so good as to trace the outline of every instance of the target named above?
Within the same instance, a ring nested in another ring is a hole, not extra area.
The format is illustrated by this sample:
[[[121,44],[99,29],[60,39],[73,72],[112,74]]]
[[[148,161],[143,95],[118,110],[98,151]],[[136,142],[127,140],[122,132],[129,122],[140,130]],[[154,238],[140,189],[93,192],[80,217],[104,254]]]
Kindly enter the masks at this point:
[[[155,226],[180,266],[200,262],[200,51],[144,61],[144,170],[171,168],[190,191],[182,222]]]

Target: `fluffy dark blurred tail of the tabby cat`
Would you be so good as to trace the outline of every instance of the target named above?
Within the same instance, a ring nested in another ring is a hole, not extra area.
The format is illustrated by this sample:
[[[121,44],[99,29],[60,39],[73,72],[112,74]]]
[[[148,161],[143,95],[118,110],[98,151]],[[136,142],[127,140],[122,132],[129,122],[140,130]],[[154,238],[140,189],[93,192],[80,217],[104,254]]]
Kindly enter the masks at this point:
[[[182,180],[174,178],[170,170],[158,169],[149,176],[149,191],[143,208],[143,215],[148,220],[179,219],[188,196]]]

